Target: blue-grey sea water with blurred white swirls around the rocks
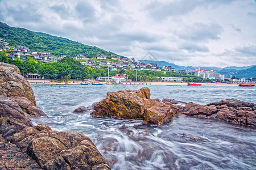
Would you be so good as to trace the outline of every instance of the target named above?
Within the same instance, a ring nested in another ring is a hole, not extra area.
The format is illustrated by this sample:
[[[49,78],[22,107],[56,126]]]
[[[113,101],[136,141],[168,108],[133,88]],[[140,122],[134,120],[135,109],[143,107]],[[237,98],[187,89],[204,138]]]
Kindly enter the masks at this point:
[[[94,118],[91,107],[106,92],[139,90],[142,85],[32,85],[37,105],[49,118],[35,118],[53,130],[87,135],[112,169],[256,169],[256,128],[226,122],[174,117],[162,126],[142,121]],[[171,98],[208,104],[225,99],[256,103],[255,87],[148,85],[151,99]]]

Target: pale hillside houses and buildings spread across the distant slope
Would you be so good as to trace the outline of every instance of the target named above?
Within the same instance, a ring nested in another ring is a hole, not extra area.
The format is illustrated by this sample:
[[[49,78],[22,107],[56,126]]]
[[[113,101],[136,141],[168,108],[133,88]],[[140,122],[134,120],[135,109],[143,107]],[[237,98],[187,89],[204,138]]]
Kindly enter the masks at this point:
[[[0,39],[0,50],[13,49],[13,53],[6,54],[9,58],[19,58],[25,59],[27,56],[34,57],[35,61],[41,61],[43,63],[47,62],[57,62],[64,57],[69,57],[65,54],[62,54],[60,57],[51,56],[48,52],[32,52],[26,46],[18,45],[16,47],[10,46],[5,40]],[[156,63],[143,63],[140,61],[136,61],[135,58],[127,58],[118,56],[116,54],[111,54],[111,56],[107,57],[106,54],[96,54],[94,58],[87,58],[84,54],[78,54],[75,58],[80,61],[82,65],[88,66],[90,68],[100,69],[101,67],[108,67],[110,70],[150,70],[150,71],[170,71],[181,74],[189,74],[200,76],[200,78],[208,78],[208,79],[220,79],[224,80],[225,76],[220,75],[216,71],[213,70],[201,70],[200,67],[195,70],[195,72],[188,72],[186,70],[178,70],[176,71],[171,66],[163,66],[159,67]],[[174,81],[172,77],[164,77],[163,81]],[[180,82],[182,78],[177,79],[175,81]]]

